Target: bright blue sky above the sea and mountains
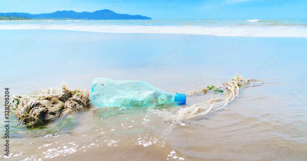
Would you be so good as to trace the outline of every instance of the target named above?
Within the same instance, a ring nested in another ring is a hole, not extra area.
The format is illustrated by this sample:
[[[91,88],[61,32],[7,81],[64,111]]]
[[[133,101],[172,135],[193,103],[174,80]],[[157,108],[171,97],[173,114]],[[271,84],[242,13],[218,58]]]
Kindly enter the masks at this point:
[[[122,4],[116,6],[115,4],[120,1]],[[208,17],[307,19],[306,7],[306,0],[2,0],[0,2],[0,12],[38,14],[58,10],[93,12],[110,9],[116,13],[139,14],[152,19],[208,19]]]

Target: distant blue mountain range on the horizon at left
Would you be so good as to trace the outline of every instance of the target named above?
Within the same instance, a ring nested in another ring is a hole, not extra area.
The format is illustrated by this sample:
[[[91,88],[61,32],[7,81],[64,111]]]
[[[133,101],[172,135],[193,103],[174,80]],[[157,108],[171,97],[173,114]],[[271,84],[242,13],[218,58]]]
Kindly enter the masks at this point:
[[[0,13],[0,16],[19,16],[32,19],[88,19],[88,20],[151,20],[150,17],[141,15],[128,15],[115,13],[108,9],[95,12],[56,11],[53,13],[29,14],[29,13]]]

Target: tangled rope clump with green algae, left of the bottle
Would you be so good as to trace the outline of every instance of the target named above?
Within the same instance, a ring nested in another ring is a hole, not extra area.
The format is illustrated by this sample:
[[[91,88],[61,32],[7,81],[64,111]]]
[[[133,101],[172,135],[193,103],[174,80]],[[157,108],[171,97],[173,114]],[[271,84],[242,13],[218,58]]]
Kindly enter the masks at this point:
[[[57,88],[12,95],[12,103],[16,101],[16,107],[13,104],[11,107],[22,124],[33,126],[90,107],[90,93],[89,90],[80,88],[70,90],[62,82]]]

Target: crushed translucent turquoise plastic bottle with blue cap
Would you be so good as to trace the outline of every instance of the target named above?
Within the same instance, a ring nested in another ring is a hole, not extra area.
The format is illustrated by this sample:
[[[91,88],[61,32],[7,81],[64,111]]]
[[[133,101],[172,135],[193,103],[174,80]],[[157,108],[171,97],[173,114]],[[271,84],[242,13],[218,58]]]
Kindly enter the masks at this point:
[[[94,78],[90,100],[99,107],[150,107],[168,103],[185,103],[182,93],[169,93],[143,81]]]

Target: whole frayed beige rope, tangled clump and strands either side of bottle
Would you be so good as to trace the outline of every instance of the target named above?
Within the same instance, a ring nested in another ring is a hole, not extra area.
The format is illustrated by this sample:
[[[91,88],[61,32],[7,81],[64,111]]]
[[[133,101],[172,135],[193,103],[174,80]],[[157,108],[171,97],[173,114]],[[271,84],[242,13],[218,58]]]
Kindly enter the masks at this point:
[[[212,98],[187,108],[181,108],[178,111],[150,110],[150,108],[149,110],[153,113],[164,115],[167,120],[172,121],[172,126],[180,124],[183,120],[200,117],[226,107],[239,95],[239,86],[246,84],[249,80],[243,79],[242,75],[237,75],[220,86],[207,86],[200,90],[185,93],[187,97],[193,97],[194,95],[208,93],[210,90],[223,92],[220,89],[226,87],[223,97]],[[12,102],[17,101],[16,108],[13,108],[13,105],[12,108],[16,111],[15,115],[21,123],[33,126],[37,123],[43,123],[65,114],[80,111],[85,107],[90,107],[89,96],[89,90],[79,88],[69,90],[67,84],[63,82],[60,88],[45,88],[25,95],[12,95]],[[177,112],[173,114],[173,111]]]

